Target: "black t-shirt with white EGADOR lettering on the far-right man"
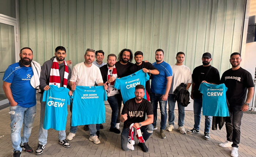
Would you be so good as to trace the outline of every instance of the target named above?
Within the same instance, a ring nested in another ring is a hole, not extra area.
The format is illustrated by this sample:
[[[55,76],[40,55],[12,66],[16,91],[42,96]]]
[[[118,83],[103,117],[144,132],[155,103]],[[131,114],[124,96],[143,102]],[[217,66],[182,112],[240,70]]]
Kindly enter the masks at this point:
[[[227,87],[226,96],[230,106],[242,106],[245,103],[247,88],[254,87],[251,73],[241,67],[225,71],[221,83]]]

